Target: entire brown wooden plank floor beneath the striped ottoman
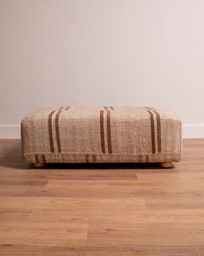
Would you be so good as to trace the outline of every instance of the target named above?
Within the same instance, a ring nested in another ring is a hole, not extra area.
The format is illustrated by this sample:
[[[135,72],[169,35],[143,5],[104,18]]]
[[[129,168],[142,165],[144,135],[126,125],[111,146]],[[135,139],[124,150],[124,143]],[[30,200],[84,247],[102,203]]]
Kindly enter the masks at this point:
[[[158,165],[48,165],[0,140],[0,255],[204,255],[204,140]]]

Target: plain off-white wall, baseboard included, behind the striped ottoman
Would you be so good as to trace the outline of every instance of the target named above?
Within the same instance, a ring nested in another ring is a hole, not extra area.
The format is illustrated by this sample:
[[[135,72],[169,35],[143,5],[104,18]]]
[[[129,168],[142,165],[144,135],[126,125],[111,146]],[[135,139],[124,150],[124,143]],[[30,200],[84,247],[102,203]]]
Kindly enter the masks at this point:
[[[203,0],[0,0],[0,136],[35,108],[154,105],[204,137]]]

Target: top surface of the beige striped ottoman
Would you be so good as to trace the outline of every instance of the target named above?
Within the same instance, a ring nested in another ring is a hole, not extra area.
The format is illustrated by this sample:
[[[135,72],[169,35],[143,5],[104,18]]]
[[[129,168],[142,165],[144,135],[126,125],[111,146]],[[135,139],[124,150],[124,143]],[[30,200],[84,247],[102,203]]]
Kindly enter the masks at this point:
[[[100,112],[110,113],[111,119],[120,120],[141,120],[150,119],[150,113],[157,113],[160,119],[170,121],[181,121],[180,118],[164,108],[151,107],[52,107],[39,108],[35,112],[28,115],[23,121],[36,121],[47,119],[51,115],[59,115],[60,120],[71,119],[99,119]]]

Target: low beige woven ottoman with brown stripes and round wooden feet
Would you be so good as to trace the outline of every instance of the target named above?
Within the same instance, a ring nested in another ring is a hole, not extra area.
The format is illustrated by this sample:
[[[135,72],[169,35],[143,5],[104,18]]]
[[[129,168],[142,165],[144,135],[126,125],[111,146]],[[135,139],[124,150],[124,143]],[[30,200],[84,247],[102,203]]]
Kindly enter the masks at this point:
[[[45,163],[181,160],[182,122],[163,108],[41,108],[22,120],[22,157]]]

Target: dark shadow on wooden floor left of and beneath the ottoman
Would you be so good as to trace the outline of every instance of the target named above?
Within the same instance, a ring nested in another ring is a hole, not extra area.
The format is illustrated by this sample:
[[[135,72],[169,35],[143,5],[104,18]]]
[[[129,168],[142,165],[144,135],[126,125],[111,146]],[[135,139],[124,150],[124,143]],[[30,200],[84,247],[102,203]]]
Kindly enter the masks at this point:
[[[0,152],[0,167],[38,170],[22,160],[22,148],[20,140],[2,140]],[[47,163],[42,169],[88,169],[89,171],[90,169],[93,171],[96,169],[103,169],[104,171],[121,169],[125,171],[125,169],[161,169],[161,167],[157,163]]]

